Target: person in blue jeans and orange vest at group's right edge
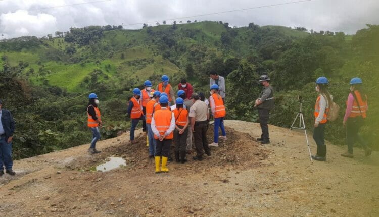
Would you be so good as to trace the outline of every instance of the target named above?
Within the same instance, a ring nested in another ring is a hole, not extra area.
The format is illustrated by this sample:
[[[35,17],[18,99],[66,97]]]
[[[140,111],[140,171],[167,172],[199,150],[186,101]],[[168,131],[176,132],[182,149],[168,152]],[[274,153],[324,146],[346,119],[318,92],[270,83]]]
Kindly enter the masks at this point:
[[[226,140],[226,132],[224,127],[224,118],[226,116],[226,110],[224,106],[224,102],[222,101],[221,96],[218,94],[218,85],[213,84],[211,86],[209,97],[209,102],[211,105],[212,115],[214,117],[214,138],[213,142],[209,144],[209,147],[218,147],[218,128],[221,128],[222,136],[221,139]]]

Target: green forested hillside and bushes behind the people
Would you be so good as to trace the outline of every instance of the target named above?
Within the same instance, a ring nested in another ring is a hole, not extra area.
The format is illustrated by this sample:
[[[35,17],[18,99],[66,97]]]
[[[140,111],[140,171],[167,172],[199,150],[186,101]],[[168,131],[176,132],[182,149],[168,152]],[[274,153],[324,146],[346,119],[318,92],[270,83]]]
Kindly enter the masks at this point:
[[[330,91],[341,106],[340,118],[329,124],[328,140],[344,143],[342,118],[348,82],[359,76],[370,100],[364,136],[378,148],[379,113],[374,88],[378,83],[379,26],[367,25],[355,35],[298,27],[231,28],[223,22],[121,26],[90,26],[56,32],[56,37],[21,37],[0,42],[0,98],[17,121],[17,158],[59,150],[90,141],[86,127],[87,94],[96,92],[106,126],[103,138],[129,126],[126,103],[130,89],[162,74],[176,86],[186,77],[196,91],[208,92],[209,72],[226,77],[228,118],[257,121],[253,102],[257,82],[267,72],[276,90],[271,123],[289,127],[305,104],[305,121],[313,123],[319,76],[330,80]]]

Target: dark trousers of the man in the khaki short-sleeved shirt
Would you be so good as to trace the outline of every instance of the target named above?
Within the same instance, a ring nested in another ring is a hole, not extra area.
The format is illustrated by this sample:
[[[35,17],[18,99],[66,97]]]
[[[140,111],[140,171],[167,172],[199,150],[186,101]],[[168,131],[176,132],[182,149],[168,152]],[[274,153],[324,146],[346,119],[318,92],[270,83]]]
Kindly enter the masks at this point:
[[[207,141],[207,123],[195,123],[194,130],[196,153],[198,157],[203,157],[204,152],[211,152]]]

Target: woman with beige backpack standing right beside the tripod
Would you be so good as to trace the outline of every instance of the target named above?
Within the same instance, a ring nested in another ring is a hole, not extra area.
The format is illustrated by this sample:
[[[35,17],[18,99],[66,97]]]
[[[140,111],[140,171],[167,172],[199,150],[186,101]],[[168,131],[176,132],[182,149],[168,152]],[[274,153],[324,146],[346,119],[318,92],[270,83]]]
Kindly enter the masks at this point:
[[[316,104],[314,105],[314,131],[313,139],[317,144],[317,154],[312,155],[312,159],[318,161],[326,160],[326,145],[325,145],[325,126],[327,123],[327,114],[329,111],[329,105],[331,100],[333,100],[329,91],[327,90],[327,85],[329,81],[325,77],[319,77],[316,80],[316,91],[320,94],[316,99]]]

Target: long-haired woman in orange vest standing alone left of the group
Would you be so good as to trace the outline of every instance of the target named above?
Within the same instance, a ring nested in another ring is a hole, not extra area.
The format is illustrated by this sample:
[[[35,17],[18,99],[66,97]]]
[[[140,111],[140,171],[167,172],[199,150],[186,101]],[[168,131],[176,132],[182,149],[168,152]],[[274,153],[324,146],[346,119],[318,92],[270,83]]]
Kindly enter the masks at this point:
[[[100,129],[103,122],[101,120],[101,114],[99,110],[99,99],[96,93],[90,93],[88,95],[88,106],[87,106],[87,126],[92,131],[92,141],[88,148],[88,152],[91,154],[98,154],[101,151],[96,150],[96,142],[101,138]]]

